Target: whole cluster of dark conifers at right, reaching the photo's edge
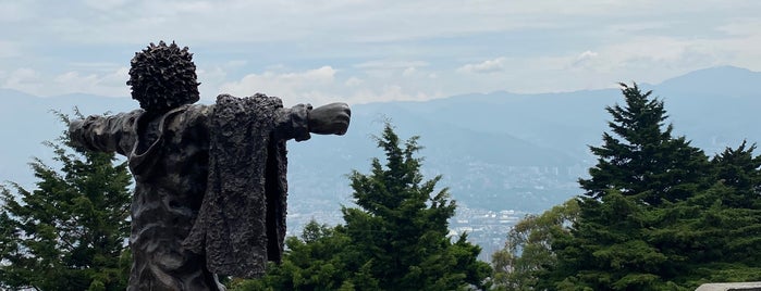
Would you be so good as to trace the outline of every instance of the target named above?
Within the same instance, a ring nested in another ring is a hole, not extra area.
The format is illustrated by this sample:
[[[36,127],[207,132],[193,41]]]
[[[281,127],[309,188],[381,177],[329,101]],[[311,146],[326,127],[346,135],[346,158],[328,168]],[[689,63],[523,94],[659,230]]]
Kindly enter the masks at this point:
[[[590,147],[579,216],[553,237],[545,290],[692,290],[761,279],[761,161],[754,146],[712,160],[673,137],[662,101],[622,84],[612,134]]]

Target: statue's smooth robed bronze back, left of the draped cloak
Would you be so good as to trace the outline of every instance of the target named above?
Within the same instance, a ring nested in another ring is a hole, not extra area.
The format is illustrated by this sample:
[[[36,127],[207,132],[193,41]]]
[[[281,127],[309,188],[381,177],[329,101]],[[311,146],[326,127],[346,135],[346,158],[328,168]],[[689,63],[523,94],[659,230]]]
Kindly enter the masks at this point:
[[[138,286],[131,288],[214,290],[204,256],[181,245],[206,189],[210,111],[195,105],[136,119],[136,142],[127,154],[136,181],[130,239],[131,282]]]

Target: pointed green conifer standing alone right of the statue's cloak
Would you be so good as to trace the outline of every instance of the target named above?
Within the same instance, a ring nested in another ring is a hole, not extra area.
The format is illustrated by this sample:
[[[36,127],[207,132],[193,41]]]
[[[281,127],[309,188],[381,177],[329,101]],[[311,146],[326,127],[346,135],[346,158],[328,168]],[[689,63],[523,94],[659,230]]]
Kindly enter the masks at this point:
[[[447,189],[435,191],[438,176],[424,180],[418,137],[401,147],[391,125],[377,139],[385,152],[369,175],[349,176],[355,203],[344,207],[346,235],[352,248],[361,251],[359,262],[370,264],[370,275],[383,290],[455,290],[467,284],[483,287],[489,266],[476,261],[480,249],[466,236],[452,243],[449,219],[455,203]]]

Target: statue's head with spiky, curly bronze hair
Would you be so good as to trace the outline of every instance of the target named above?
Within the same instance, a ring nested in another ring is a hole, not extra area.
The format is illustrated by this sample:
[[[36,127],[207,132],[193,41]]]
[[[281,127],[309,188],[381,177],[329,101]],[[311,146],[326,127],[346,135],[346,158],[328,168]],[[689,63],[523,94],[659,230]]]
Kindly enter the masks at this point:
[[[187,47],[180,49],[174,41],[170,46],[150,42],[135,53],[131,66],[126,84],[132,88],[132,99],[147,112],[165,112],[200,98],[196,64]]]

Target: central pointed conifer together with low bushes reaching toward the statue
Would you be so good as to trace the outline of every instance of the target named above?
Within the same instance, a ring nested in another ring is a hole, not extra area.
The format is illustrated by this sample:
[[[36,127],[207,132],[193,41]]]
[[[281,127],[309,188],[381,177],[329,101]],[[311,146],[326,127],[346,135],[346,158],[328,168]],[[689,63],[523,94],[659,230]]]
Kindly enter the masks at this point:
[[[302,238],[289,238],[281,265],[260,280],[241,281],[233,290],[458,290],[486,288],[491,275],[477,261],[480,248],[463,233],[449,235],[455,203],[441,177],[425,180],[417,137],[402,143],[385,125],[378,147],[385,163],[373,159],[369,174],[349,175],[354,203],[343,207],[345,224],[330,228],[311,223]]]

